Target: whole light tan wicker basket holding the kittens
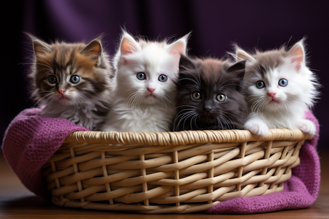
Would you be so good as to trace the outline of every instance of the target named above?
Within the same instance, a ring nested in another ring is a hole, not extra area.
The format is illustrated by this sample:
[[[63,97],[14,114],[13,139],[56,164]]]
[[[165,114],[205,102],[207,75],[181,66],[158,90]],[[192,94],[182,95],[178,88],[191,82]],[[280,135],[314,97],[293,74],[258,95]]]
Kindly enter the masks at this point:
[[[311,138],[298,129],[74,132],[44,173],[58,206],[188,213],[282,191]]]

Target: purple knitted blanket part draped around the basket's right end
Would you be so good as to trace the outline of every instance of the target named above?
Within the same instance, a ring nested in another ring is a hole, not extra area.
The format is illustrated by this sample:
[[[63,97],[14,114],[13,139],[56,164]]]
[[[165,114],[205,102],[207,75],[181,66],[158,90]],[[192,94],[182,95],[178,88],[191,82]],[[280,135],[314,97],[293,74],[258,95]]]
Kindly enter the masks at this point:
[[[319,133],[319,123],[311,111],[305,118],[313,121]],[[300,165],[293,168],[293,175],[284,183],[282,192],[265,196],[237,197],[221,202],[206,212],[209,214],[252,214],[288,209],[301,209],[311,206],[317,199],[320,188],[320,159],[316,150],[319,140],[306,141],[301,147]]]

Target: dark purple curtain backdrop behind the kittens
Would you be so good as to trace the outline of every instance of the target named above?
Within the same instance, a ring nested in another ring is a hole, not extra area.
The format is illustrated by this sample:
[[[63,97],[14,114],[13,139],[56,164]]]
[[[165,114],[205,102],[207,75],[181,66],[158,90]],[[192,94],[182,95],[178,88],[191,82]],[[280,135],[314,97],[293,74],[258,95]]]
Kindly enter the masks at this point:
[[[45,0],[2,3],[1,141],[10,121],[32,107],[26,74],[31,42],[24,31],[47,42],[90,41],[105,33],[113,55],[120,27],[149,38],[192,32],[189,53],[221,57],[231,44],[261,50],[293,45],[307,36],[309,67],[319,77],[321,100],[313,109],[320,122],[319,150],[329,148],[328,1],[101,1]],[[291,37],[291,40],[289,41]]]

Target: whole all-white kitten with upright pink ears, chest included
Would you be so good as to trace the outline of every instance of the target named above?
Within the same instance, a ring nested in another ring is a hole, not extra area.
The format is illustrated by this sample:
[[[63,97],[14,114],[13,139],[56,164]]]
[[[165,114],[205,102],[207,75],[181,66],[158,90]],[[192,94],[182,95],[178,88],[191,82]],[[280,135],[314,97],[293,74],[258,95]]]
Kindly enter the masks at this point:
[[[113,110],[103,131],[170,131],[175,114],[175,81],[180,53],[186,53],[189,34],[167,41],[135,40],[123,31],[114,57],[117,88]]]

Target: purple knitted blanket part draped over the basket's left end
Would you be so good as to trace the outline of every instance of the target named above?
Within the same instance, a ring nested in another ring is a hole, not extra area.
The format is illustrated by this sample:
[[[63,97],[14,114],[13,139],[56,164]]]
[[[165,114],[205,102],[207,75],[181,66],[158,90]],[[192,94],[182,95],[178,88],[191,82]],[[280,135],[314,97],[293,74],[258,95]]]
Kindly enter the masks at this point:
[[[2,150],[7,163],[30,191],[49,198],[42,166],[75,131],[90,131],[61,118],[41,116],[41,109],[26,109],[6,130]]]

